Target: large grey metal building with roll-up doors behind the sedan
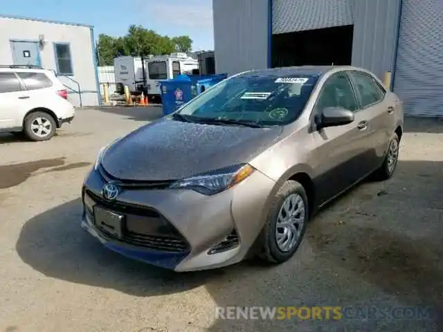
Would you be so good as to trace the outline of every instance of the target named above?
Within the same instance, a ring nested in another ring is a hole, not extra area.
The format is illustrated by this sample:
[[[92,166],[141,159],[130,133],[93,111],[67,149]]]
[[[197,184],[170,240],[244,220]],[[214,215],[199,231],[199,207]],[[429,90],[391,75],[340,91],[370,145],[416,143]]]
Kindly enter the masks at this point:
[[[213,0],[217,73],[352,64],[406,114],[443,116],[442,0]]]

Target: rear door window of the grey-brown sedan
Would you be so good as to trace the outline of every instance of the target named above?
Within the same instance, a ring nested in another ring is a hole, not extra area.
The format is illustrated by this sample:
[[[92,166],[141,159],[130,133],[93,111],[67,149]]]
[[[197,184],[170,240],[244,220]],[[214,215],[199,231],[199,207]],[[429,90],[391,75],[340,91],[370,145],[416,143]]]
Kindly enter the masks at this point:
[[[349,75],[359,93],[361,107],[368,107],[383,99],[386,91],[374,80],[374,77],[360,71],[350,71]]]

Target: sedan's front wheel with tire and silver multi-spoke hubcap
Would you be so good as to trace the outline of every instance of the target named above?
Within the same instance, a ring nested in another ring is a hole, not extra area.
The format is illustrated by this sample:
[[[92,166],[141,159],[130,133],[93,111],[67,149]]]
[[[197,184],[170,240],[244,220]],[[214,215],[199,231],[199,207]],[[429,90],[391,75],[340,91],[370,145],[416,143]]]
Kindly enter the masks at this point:
[[[270,263],[283,263],[297,251],[309,217],[305,189],[296,181],[283,183],[275,195],[262,230],[262,255]]]

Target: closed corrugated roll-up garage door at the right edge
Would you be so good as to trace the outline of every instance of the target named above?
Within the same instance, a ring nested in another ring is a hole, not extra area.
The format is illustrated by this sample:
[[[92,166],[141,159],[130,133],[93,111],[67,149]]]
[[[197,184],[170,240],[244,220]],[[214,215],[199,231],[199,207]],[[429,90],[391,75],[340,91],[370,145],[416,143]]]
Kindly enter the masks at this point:
[[[394,92],[412,116],[443,116],[443,1],[403,0]]]

